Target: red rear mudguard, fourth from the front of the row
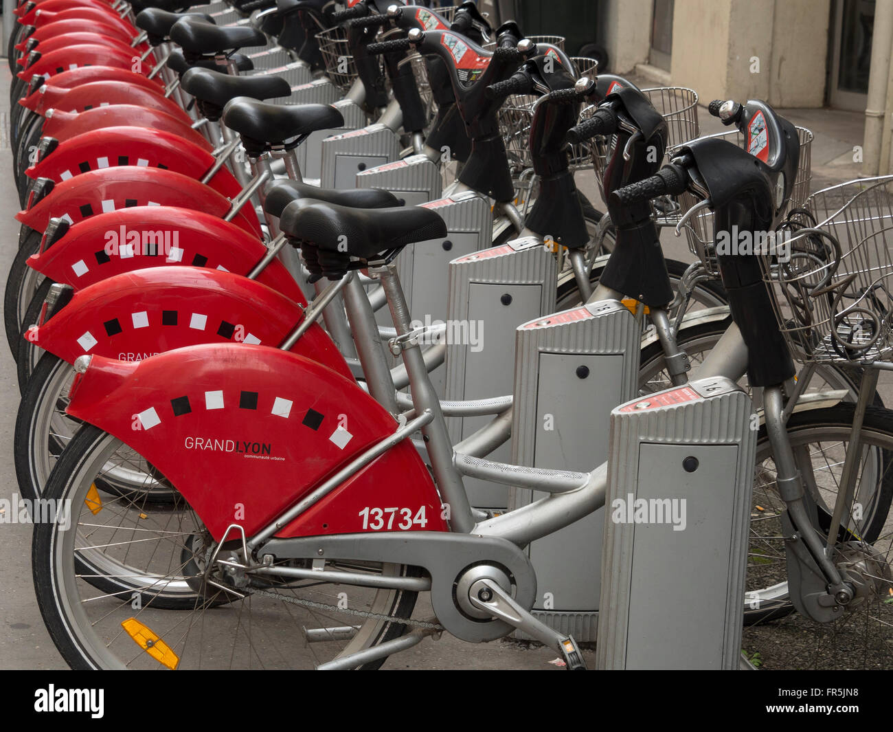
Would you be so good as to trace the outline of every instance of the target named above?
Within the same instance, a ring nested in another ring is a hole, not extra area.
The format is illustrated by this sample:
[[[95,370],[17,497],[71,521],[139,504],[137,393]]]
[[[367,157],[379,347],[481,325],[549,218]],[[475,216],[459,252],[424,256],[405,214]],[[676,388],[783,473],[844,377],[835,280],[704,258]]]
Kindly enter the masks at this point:
[[[184,206],[222,218],[230,209],[230,201],[179,172],[121,165],[84,172],[57,183],[45,198],[20,211],[15,218],[35,231],[45,231],[53,216],[75,223],[88,216],[132,206]],[[233,223],[262,239],[252,206],[243,206]]]

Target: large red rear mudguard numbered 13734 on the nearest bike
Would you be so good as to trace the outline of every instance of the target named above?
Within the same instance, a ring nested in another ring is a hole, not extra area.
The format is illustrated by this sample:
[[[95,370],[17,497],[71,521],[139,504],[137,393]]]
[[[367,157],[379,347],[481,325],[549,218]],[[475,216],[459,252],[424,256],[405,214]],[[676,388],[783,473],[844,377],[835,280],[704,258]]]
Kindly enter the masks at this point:
[[[234,523],[256,534],[397,427],[329,368],[245,344],[192,346],[138,363],[94,356],[72,384],[67,411],[149,460],[218,541]],[[362,509],[354,510],[361,504],[413,516],[424,507],[427,526],[408,530],[447,530],[438,492],[408,440],[336,492],[313,508],[313,534],[336,533],[336,523],[363,531]]]

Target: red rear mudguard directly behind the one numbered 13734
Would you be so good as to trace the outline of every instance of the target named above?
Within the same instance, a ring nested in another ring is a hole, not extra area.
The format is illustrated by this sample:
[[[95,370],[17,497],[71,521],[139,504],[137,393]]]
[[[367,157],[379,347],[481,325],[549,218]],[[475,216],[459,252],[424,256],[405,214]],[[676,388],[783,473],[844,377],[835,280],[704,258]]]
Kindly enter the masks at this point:
[[[86,353],[140,361],[199,343],[275,348],[303,318],[296,303],[255,280],[213,269],[161,267],[118,274],[75,292],[25,338],[70,364]],[[353,379],[319,324],[291,351]]]

